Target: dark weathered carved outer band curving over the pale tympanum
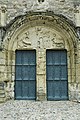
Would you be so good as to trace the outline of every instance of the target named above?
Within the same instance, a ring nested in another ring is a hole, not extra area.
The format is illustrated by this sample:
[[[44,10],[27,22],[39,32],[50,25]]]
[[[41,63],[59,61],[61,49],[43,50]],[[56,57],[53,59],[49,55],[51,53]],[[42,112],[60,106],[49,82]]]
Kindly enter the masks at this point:
[[[36,22],[35,24],[39,24],[38,21],[47,25],[47,23],[56,25],[62,30],[66,31],[70,37],[74,36],[74,44],[77,42],[76,38],[78,38],[76,27],[74,24],[63,17],[62,15],[55,15],[53,12],[28,12],[25,15],[21,15],[16,17],[6,26],[6,34],[8,41],[11,39],[15,31],[23,27],[25,24],[30,22]]]

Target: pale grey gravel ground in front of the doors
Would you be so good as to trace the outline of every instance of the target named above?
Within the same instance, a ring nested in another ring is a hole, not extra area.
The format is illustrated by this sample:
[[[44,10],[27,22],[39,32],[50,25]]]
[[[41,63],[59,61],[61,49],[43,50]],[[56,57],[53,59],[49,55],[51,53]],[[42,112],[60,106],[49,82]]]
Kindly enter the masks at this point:
[[[80,103],[10,100],[0,104],[0,120],[80,120]]]

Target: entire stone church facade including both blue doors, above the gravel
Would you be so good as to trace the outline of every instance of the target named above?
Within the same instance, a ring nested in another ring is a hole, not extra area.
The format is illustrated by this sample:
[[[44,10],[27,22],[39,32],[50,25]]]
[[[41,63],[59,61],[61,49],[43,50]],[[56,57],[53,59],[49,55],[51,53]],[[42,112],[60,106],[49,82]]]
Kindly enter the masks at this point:
[[[80,102],[79,0],[0,0],[0,102]]]

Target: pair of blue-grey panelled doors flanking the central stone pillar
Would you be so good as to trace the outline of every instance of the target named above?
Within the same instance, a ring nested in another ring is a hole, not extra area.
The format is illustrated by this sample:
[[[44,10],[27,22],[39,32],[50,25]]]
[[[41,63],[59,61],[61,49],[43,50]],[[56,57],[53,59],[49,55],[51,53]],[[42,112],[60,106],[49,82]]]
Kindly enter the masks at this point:
[[[68,99],[67,51],[46,51],[46,91],[48,100]],[[36,100],[36,51],[17,50],[15,99]]]

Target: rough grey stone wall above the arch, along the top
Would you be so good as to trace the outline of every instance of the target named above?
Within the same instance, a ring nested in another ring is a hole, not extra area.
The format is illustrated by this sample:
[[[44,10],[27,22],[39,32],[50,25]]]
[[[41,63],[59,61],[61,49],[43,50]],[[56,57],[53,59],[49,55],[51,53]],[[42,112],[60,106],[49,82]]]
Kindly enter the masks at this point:
[[[55,14],[62,14],[74,21],[74,13],[80,4],[79,0],[0,0],[0,8],[6,8],[7,23],[16,16],[25,14],[27,11],[53,11]],[[0,10],[1,10],[0,9]]]

